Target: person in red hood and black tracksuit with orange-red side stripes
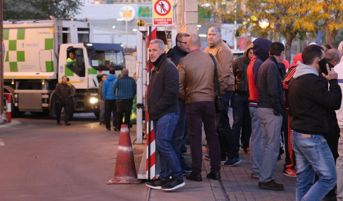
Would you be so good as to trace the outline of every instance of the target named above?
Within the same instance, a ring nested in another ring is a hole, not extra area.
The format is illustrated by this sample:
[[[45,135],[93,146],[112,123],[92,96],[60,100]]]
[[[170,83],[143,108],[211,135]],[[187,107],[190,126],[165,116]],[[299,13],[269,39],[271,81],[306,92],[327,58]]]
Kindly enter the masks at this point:
[[[283,168],[282,175],[287,177],[297,177],[296,170],[295,170],[295,153],[293,151],[293,146],[291,142],[291,125],[289,125],[289,112],[288,112],[288,84],[289,81],[293,78],[293,75],[296,71],[298,66],[297,62],[303,62],[301,58],[302,53],[299,53],[293,57],[293,63],[288,68],[287,74],[282,81],[282,88],[283,88],[283,133],[284,133],[284,140],[285,140],[285,165]]]

